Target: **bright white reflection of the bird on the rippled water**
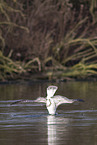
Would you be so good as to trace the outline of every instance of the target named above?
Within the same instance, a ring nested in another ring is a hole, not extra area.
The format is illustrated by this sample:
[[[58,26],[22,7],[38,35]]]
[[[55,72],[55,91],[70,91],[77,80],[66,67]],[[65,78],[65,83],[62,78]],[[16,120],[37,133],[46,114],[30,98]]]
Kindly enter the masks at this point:
[[[49,115],[47,117],[48,145],[60,144],[60,140],[67,131],[68,118]],[[67,134],[66,134],[67,136]],[[66,138],[64,138],[66,140]]]

